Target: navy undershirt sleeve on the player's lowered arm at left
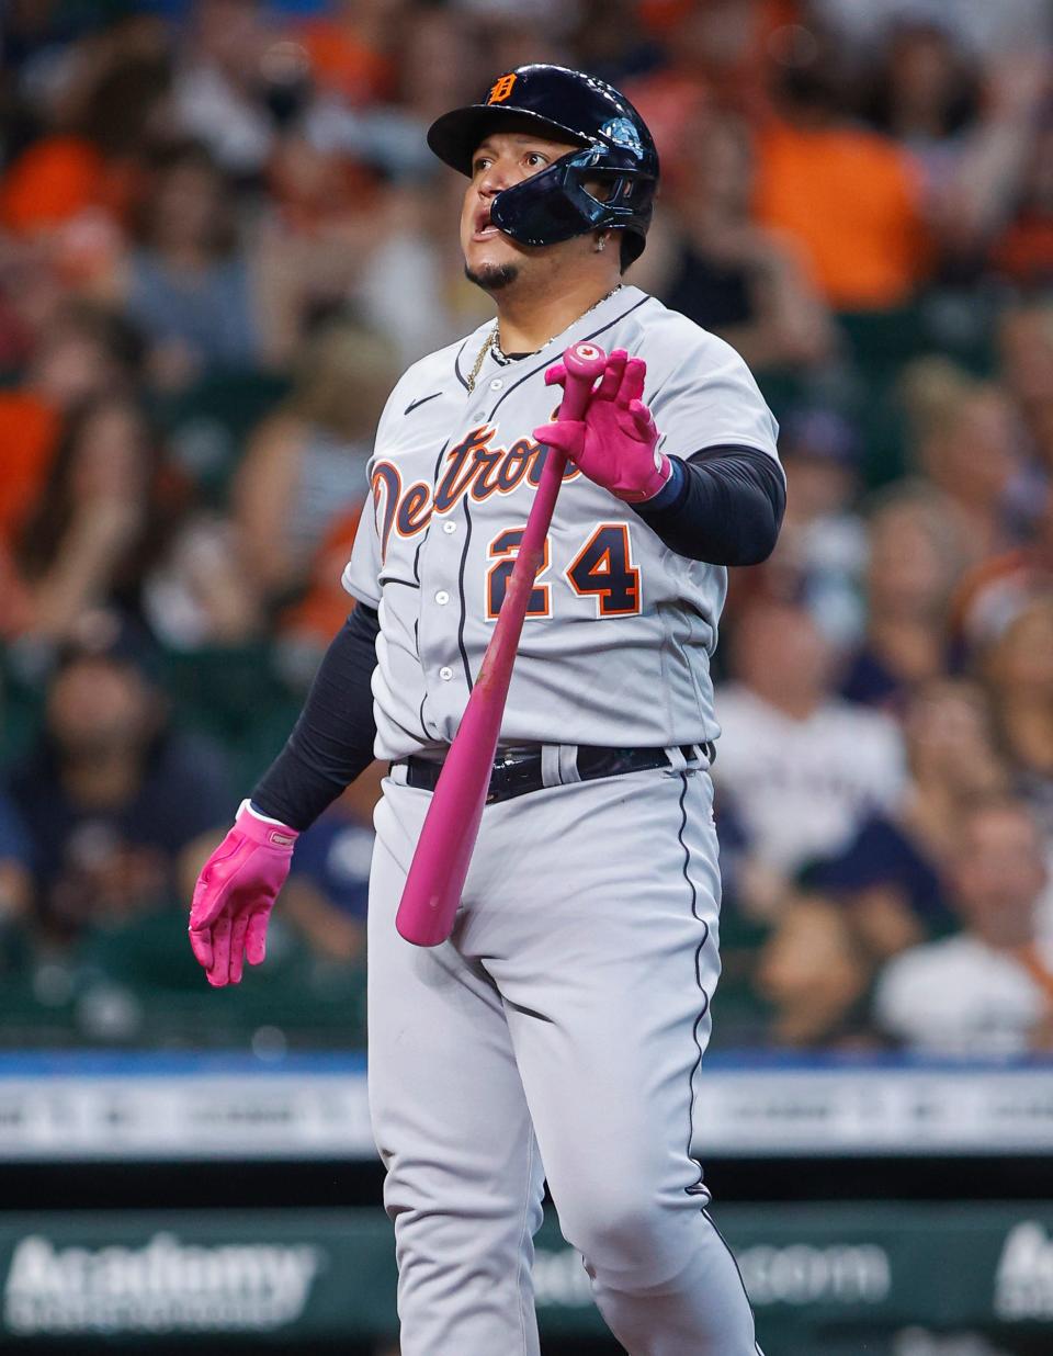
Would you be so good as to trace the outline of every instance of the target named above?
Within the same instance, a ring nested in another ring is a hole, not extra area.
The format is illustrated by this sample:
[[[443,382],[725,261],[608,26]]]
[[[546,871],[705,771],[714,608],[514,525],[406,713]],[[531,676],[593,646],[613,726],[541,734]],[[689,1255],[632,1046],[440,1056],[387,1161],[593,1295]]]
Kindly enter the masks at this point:
[[[253,808],[306,829],[373,762],[378,631],[375,609],[359,603],[325,651],[285,749],[253,788]]]

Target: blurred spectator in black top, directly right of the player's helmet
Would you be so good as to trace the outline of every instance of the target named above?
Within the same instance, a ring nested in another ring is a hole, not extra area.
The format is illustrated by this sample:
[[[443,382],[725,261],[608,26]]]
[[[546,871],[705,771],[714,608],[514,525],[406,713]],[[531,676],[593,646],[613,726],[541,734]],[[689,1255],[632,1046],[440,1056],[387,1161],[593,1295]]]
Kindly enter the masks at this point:
[[[806,366],[829,354],[829,317],[793,241],[751,221],[752,159],[741,118],[698,117],[678,170],[667,277],[655,290],[726,339],[752,369]],[[649,247],[642,273],[652,268]]]

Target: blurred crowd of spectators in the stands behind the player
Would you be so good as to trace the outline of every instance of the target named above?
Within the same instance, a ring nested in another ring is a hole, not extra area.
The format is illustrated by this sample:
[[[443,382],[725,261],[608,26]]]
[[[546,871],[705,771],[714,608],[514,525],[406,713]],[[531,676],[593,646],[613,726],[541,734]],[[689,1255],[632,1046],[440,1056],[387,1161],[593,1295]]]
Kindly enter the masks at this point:
[[[638,104],[629,281],[782,424],[716,1043],[1053,1048],[1045,0],[8,0],[0,45],[0,1040],[362,1039],[378,769],[241,993],[186,906],[346,613],[388,391],[488,315],[424,130],[543,60]]]

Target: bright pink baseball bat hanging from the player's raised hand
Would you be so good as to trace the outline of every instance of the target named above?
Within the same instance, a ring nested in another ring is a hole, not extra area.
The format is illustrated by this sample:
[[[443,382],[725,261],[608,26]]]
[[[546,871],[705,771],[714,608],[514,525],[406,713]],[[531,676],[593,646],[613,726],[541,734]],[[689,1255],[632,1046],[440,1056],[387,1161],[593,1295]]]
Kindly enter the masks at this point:
[[[607,355],[598,344],[576,343],[562,361],[566,381],[557,418],[581,419]],[[409,864],[394,925],[417,946],[438,946],[453,930],[487,803],[523,618],[545,559],[545,537],[565,469],[566,456],[549,447],[493,635]]]

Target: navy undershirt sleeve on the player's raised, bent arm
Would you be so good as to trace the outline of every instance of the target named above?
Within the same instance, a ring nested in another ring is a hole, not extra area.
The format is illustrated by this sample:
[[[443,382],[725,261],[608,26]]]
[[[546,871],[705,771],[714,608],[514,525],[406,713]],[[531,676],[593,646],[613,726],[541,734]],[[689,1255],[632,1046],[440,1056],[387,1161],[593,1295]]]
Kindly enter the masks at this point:
[[[669,460],[669,483],[653,500],[634,504],[652,532],[688,560],[711,565],[767,560],[786,509],[775,460],[758,447],[732,446],[706,447],[687,461]]]

